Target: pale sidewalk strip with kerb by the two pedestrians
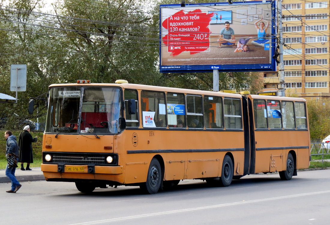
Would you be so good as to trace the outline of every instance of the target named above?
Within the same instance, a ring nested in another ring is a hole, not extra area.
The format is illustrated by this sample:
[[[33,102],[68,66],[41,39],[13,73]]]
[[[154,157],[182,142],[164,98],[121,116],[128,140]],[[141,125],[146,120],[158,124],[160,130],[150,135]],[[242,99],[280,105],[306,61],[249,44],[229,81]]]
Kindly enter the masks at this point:
[[[20,167],[17,167],[15,172],[15,177],[18,181],[35,181],[35,180],[45,180],[44,174],[40,167],[31,167],[32,170],[23,171]],[[0,170],[0,183],[11,182],[11,180],[6,177],[6,170]]]

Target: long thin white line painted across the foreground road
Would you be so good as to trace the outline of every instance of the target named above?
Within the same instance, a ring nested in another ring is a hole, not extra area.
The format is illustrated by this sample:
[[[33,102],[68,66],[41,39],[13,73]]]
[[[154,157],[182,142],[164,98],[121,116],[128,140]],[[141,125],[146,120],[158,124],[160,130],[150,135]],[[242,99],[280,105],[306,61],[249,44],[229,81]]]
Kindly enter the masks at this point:
[[[89,221],[89,222],[83,222],[83,223],[74,223],[74,224],[69,224],[69,225],[88,225],[88,224],[108,223],[108,222],[114,222],[114,221],[119,221],[119,220],[136,219],[136,218],[142,218],[142,217],[148,217],[148,216],[165,215],[165,214],[171,214],[171,213],[177,213],[177,212],[187,212],[187,211],[194,211],[194,210],[201,210],[201,209],[212,209],[212,208],[219,208],[219,207],[224,207],[224,206],[234,206],[234,205],[240,205],[240,204],[264,202],[264,201],[270,201],[270,200],[293,198],[293,197],[300,197],[300,196],[306,196],[306,195],[323,194],[323,193],[329,193],[329,192],[330,192],[330,190],[316,191],[316,192],[309,192],[309,193],[296,194],[296,195],[286,195],[286,196],[273,197],[273,198],[256,199],[256,200],[234,202],[234,203],[225,203],[225,204],[214,205],[214,206],[204,206],[204,207],[196,207],[196,208],[190,208],[190,209],[178,209],[178,210],[154,212],[154,213],[135,215],[135,216],[118,217],[118,218],[113,218],[113,219],[95,220],[95,221]]]

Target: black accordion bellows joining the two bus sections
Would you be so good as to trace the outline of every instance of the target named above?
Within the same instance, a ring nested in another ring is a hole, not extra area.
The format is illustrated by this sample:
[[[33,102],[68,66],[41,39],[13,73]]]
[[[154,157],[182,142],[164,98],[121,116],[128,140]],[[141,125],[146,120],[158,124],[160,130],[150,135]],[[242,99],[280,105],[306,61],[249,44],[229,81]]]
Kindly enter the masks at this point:
[[[253,174],[255,169],[255,139],[251,99],[242,96],[244,121],[244,175]]]

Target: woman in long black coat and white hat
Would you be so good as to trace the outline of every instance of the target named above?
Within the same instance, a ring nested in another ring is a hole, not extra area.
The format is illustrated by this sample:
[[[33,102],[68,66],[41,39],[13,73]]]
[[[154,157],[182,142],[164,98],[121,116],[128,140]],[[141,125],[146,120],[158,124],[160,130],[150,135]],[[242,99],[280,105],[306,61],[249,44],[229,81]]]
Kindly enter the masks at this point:
[[[27,163],[26,170],[30,169],[30,163],[33,163],[33,153],[32,153],[32,142],[37,142],[38,138],[32,138],[30,134],[30,126],[24,127],[18,136],[18,146],[19,146],[19,159],[18,162],[21,163],[21,170],[24,169],[24,163]]]

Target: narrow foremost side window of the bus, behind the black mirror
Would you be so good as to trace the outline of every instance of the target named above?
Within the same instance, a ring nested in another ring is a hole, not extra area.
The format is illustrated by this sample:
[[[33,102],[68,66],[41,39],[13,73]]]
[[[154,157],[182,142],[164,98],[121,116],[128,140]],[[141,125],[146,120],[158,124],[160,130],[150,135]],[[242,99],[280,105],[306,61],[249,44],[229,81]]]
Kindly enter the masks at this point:
[[[139,104],[138,104],[138,93],[136,90],[124,90],[124,101],[125,101],[125,120],[126,127],[138,127],[139,126]],[[128,102],[129,99],[135,99],[136,113],[128,113]]]

